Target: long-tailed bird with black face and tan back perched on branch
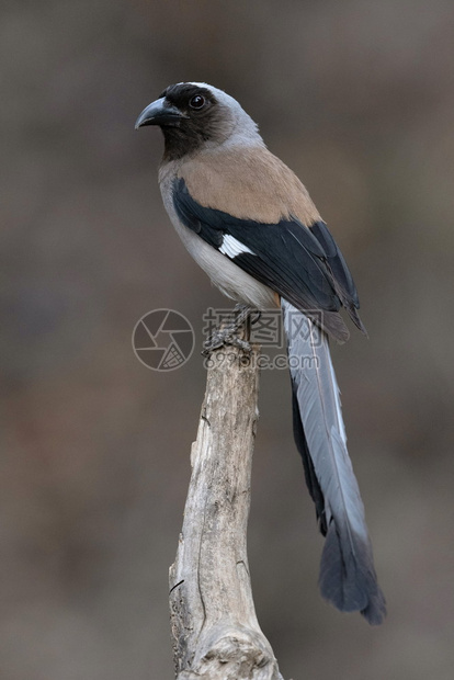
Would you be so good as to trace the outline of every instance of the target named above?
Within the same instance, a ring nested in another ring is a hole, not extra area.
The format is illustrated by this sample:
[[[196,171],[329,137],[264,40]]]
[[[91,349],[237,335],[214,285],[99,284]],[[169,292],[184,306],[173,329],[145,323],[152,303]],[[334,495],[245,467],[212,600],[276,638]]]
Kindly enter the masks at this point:
[[[239,309],[282,309],[293,433],[325,536],[320,592],[338,610],[381,624],[386,601],[329,349],[330,338],[342,343],[350,335],[341,308],[366,332],[345,260],[304,184],[225,91],[169,86],[135,127],[148,125],[163,133],[162,201],[190,254]]]

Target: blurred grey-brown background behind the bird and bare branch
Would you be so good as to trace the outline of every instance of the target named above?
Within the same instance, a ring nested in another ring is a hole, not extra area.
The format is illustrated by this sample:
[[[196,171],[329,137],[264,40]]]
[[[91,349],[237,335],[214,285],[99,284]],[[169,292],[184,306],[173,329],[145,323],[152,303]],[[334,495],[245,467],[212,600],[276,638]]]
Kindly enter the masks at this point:
[[[173,677],[167,578],[205,371],[146,370],[146,311],[202,343],[226,306],[161,206],[161,90],[236,97],[305,181],[353,270],[370,341],[334,348],[389,614],[319,597],[322,541],[263,372],[249,552],[285,678],[447,680],[454,665],[451,0],[2,2],[0,676]]]

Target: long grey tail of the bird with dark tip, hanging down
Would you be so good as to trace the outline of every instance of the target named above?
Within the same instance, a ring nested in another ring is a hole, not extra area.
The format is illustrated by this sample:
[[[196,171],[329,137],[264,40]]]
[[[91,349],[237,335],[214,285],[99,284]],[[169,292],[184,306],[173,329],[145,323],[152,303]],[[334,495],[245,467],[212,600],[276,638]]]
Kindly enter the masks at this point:
[[[293,386],[295,442],[306,483],[326,535],[319,586],[343,612],[360,611],[382,623],[386,603],[377,583],[364,506],[347,451],[339,387],[328,338],[282,299]]]

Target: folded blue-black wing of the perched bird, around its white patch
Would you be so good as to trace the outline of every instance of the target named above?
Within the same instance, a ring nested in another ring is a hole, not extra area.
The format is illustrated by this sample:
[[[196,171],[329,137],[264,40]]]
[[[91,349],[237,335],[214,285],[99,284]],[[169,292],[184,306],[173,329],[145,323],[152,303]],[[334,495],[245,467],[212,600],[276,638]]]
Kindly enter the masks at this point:
[[[308,229],[296,218],[262,224],[232,217],[200,205],[181,178],[173,184],[173,204],[182,223],[213,248],[222,251],[226,236],[235,238],[245,247],[243,251],[239,249],[235,256],[224,253],[226,257],[339,340],[349,337],[337,313],[341,305],[350,314],[359,307],[356,288],[325,223],[318,222]],[[321,317],[317,315],[319,310],[324,313]]]

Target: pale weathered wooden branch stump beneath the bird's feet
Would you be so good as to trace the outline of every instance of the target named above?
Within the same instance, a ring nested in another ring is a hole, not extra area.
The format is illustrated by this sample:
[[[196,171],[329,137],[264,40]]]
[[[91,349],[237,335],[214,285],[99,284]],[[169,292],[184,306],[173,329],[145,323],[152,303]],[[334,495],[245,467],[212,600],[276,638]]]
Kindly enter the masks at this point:
[[[283,680],[257,621],[246,532],[259,349],[211,356],[170,612],[178,680]]]

